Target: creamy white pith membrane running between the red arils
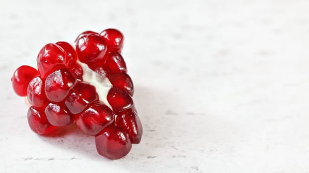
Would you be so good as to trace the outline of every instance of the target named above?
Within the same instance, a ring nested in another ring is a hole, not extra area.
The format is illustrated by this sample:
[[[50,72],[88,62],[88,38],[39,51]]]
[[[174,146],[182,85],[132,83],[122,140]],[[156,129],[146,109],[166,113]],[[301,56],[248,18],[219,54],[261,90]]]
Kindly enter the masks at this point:
[[[75,43],[72,44],[72,47],[76,51]],[[111,110],[113,110],[112,106],[107,101],[108,91],[112,88],[112,84],[110,83],[107,77],[103,77],[89,68],[89,66],[85,63],[82,63],[78,60],[77,56],[77,64],[80,65],[83,71],[82,81],[86,82],[95,87],[96,93],[99,96],[99,100],[103,102],[106,106],[108,106]]]

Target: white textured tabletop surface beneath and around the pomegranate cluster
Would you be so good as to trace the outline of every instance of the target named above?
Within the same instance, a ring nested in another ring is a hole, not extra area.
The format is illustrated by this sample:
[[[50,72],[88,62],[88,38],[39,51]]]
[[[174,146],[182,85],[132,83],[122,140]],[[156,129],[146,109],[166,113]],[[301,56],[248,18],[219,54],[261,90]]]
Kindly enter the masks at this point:
[[[110,161],[39,136],[9,79],[46,43],[120,29],[144,125]],[[308,173],[308,0],[1,0],[0,173]]]

